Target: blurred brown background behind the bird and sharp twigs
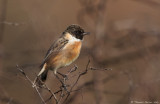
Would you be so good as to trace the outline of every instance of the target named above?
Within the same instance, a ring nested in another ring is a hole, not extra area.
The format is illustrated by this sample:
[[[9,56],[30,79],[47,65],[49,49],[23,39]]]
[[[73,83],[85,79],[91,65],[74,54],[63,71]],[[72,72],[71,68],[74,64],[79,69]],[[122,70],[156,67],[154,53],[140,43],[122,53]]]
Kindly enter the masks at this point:
[[[92,67],[112,70],[81,77],[82,90],[67,104],[160,103],[159,0],[0,0],[0,104],[41,103],[16,64],[34,79],[46,51],[70,24],[91,35],[78,60],[61,71],[74,64],[84,70],[88,59]],[[46,83],[55,90],[52,73]]]

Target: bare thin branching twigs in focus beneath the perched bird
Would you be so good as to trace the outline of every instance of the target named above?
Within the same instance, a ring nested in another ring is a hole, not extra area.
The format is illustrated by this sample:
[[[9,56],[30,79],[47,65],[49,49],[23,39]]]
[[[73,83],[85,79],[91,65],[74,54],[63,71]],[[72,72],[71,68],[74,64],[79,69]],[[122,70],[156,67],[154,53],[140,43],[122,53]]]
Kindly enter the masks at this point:
[[[44,104],[46,104],[48,101],[50,101],[52,99],[52,97],[54,97],[54,100],[56,101],[56,104],[63,104],[65,103],[69,96],[71,95],[71,93],[75,92],[75,91],[80,91],[81,89],[75,89],[75,86],[77,85],[78,81],[80,80],[81,76],[86,75],[87,72],[89,70],[109,70],[109,69],[99,69],[99,68],[94,68],[94,67],[89,67],[90,64],[90,60],[88,60],[88,63],[86,65],[86,68],[84,71],[82,72],[77,72],[77,66],[75,65],[73,68],[71,68],[67,74],[61,74],[59,72],[57,72],[60,76],[62,76],[62,79],[58,76],[58,74],[56,74],[56,78],[58,79],[58,81],[61,83],[61,86],[59,86],[59,90],[57,90],[56,92],[52,92],[51,89],[44,83],[43,86],[37,86],[34,82],[32,82],[32,80],[26,75],[26,73],[23,71],[22,68],[19,68],[19,66],[17,65],[17,69],[25,76],[25,78],[32,84],[32,86],[34,86],[36,92],[38,93],[38,95],[40,96],[42,102]],[[73,73],[76,73],[73,75]],[[74,77],[77,77],[76,79]],[[71,79],[75,79],[74,81],[71,81]],[[36,80],[40,80],[38,77],[36,77]],[[41,81],[41,80],[40,80]],[[71,83],[69,83],[69,81]],[[47,99],[44,100],[41,93],[39,92],[39,88],[44,88],[46,89],[51,96]]]

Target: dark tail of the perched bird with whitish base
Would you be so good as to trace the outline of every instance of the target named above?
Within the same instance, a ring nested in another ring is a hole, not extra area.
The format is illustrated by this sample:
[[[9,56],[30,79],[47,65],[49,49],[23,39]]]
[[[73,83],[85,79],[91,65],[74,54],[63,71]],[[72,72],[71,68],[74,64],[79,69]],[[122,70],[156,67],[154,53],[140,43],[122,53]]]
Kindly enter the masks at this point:
[[[39,86],[42,86],[47,79],[48,69],[46,68],[46,64],[43,65],[41,71],[38,74],[38,78],[36,79],[36,83]]]

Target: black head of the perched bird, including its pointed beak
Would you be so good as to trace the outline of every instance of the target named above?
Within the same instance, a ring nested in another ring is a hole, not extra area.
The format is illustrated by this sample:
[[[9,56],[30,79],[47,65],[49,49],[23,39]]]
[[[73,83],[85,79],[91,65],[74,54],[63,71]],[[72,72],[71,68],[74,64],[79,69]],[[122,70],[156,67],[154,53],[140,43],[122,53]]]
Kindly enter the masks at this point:
[[[76,37],[77,39],[81,40],[83,39],[83,36],[89,34],[89,32],[84,32],[84,30],[78,25],[68,26],[67,29],[65,30],[65,33],[67,32]]]

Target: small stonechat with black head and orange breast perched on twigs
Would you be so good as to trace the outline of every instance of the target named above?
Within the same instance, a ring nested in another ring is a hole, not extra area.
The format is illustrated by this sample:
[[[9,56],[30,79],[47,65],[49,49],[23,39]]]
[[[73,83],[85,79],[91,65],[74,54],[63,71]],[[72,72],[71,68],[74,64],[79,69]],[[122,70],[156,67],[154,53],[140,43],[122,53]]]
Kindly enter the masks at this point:
[[[89,32],[85,32],[79,25],[70,25],[62,35],[51,45],[43,63],[38,77],[42,82],[47,78],[48,70],[57,73],[57,70],[70,65],[75,61],[81,50],[82,40]]]

